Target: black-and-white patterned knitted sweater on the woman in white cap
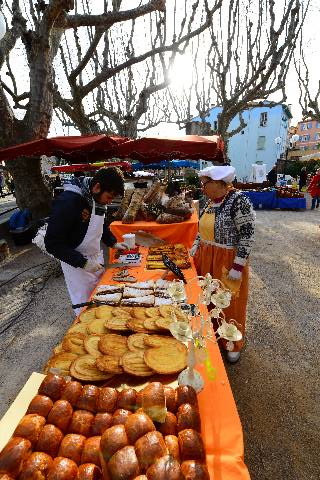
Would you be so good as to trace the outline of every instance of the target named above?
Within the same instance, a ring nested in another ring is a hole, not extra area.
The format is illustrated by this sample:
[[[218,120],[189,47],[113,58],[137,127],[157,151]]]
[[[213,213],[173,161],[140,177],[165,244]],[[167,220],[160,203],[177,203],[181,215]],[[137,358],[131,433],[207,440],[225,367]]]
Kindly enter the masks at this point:
[[[233,269],[241,273],[254,242],[255,212],[252,203],[242,192],[232,190],[221,204],[207,208],[215,213],[214,243],[236,249]],[[200,245],[198,234],[194,247]]]

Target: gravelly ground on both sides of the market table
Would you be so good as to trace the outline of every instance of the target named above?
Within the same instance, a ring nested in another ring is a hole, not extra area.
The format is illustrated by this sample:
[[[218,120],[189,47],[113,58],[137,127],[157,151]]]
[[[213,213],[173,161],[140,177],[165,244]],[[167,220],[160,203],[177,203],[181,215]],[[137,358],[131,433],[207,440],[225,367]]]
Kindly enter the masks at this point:
[[[320,209],[257,211],[246,346],[226,364],[252,480],[320,478],[319,225]],[[73,320],[56,264],[33,245],[9,247],[0,268],[0,417]]]

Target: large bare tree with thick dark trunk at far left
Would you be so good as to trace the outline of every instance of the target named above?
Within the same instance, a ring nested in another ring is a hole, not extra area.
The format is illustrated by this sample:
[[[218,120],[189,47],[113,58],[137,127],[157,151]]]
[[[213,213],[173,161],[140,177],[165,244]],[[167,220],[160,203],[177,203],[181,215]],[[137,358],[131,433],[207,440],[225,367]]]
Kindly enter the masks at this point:
[[[0,42],[1,146],[46,137],[54,107],[63,122],[72,122],[83,133],[103,130],[135,136],[141,117],[150,113],[152,95],[167,86],[176,52],[211,25],[222,2],[212,0],[209,7],[207,0],[188,0],[186,14],[172,19],[167,18],[165,0],[137,1],[138,6],[127,10],[122,9],[123,0],[104,0],[99,15],[90,11],[89,0],[4,0],[11,26]],[[179,0],[171,3],[177,12]],[[135,25],[143,27],[143,19],[149,22],[149,38],[137,45]],[[84,45],[83,29],[88,38]],[[13,72],[17,50],[20,57],[26,56],[26,79]],[[144,77],[141,83],[139,75]],[[46,214],[50,193],[40,160],[20,158],[7,162],[7,168],[18,205],[30,208],[35,217]]]

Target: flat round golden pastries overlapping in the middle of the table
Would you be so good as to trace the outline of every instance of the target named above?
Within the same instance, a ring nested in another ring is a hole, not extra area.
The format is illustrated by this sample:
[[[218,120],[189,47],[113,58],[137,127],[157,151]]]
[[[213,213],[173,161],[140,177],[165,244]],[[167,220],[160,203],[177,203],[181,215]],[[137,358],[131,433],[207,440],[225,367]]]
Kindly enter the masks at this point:
[[[134,290],[143,294],[148,293],[150,288],[158,289],[153,281],[148,281],[139,282],[139,289]],[[131,287],[125,286],[122,289],[128,294],[135,294]],[[159,291],[162,294],[165,292],[164,289]],[[150,297],[153,295],[130,297],[124,299],[128,301],[127,306],[101,305],[91,308],[90,316],[81,314],[80,322],[76,325],[82,325],[83,332],[87,333],[70,333],[68,330],[62,341],[62,350],[49,359],[46,371],[55,368],[58,373],[71,375],[82,382],[110,380],[121,374],[143,378],[154,374],[179,373],[187,365],[187,347],[174,339],[169,329],[174,319],[188,319],[179,307],[173,305],[161,303],[159,307],[148,307]],[[165,297],[159,298],[166,300]],[[146,306],[141,306],[141,303]],[[93,317],[94,312],[99,318]],[[73,351],[64,351],[63,348]],[[147,354],[148,350],[152,352]],[[170,366],[166,365],[166,361]],[[74,405],[82,395],[82,388],[77,382],[73,382],[69,388],[70,391],[64,394],[64,400]],[[35,402],[34,410],[30,413],[47,416],[52,408],[50,399],[48,404],[42,401],[41,408]]]

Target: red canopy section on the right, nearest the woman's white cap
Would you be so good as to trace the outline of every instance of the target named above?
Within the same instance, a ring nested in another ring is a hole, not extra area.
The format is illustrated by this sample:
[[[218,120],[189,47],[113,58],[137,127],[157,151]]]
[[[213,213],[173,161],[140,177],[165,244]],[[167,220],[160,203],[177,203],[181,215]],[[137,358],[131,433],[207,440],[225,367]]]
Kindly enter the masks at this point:
[[[173,159],[224,162],[223,141],[217,135],[210,137],[198,135],[170,138],[144,137],[128,140],[113,149],[113,156],[132,158],[145,164]]]

